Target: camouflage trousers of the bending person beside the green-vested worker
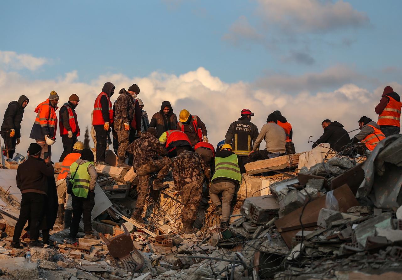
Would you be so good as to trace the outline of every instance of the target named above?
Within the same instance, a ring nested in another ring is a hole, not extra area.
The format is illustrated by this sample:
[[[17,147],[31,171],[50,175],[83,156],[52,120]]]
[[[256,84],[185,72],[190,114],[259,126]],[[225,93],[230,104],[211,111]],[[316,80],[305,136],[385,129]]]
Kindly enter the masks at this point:
[[[184,185],[181,191],[181,202],[183,203],[183,221],[195,221],[197,218],[198,205],[202,199],[203,181],[197,180]]]

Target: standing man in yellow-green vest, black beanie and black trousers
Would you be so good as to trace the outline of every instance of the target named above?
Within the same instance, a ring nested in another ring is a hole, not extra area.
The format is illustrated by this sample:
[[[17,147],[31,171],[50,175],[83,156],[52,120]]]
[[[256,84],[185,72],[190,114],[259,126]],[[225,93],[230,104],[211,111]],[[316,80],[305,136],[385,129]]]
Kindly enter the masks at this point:
[[[97,239],[92,231],[91,212],[95,206],[95,185],[98,179],[94,166],[94,154],[90,149],[82,149],[81,157],[73,162],[67,175],[66,181],[72,183],[72,207],[73,218],[70,225],[68,238],[75,240],[78,233],[78,225],[84,222],[86,239]]]

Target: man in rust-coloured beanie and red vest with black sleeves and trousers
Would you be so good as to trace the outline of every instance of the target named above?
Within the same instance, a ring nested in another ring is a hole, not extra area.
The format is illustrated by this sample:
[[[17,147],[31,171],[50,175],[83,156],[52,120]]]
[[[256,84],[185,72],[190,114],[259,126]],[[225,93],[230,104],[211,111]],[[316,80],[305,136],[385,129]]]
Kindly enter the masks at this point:
[[[77,137],[80,136],[80,127],[78,126],[75,112],[78,102],[80,102],[80,98],[74,93],[70,95],[68,102],[64,103],[59,110],[60,137],[62,137],[64,149],[59,162],[63,161],[72,152],[74,143],[77,142]]]

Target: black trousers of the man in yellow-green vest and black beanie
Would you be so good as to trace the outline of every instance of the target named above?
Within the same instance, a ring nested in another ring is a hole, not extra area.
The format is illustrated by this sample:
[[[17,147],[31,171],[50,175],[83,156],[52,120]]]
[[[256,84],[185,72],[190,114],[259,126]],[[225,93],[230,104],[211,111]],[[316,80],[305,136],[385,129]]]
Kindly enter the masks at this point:
[[[91,219],[91,212],[95,206],[95,193],[93,191],[89,191],[88,196],[84,197],[77,197],[74,193],[71,194],[72,198],[72,206],[73,206],[73,218],[71,220],[70,225],[70,234],[73,237],[77,236],[78,233],[78,225],[81,221],[84,222],[84,232],[86,234],[92,233],[92,219]]]

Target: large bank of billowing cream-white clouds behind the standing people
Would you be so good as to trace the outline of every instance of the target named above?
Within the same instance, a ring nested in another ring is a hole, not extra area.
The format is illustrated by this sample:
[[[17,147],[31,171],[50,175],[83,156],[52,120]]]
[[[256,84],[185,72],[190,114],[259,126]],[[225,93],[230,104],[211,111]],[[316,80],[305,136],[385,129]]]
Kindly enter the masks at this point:
[[[30,99],[22,123],[22,142],[17,146],[17,152],[25,154],[29,143],[33,142],[29,139],[36,116],[33,111],[52,90],[59,94],[60,105],[66,102],[72,93],[80,97],[77,114],[80,128],[84,131],[85,127],[90,125],[94,100],[105,82],[110,81],[116,86],[112,101],[117,99],[121,88],[127,89],[132,83],[137,83],[141,89],[139,98],[144,101],[144,110],[148,112],[150,118],[160,110],[162,101],[169,100],[176,114],[182,109],[187,109],[191,114],[199,116],[205,122],[209,140],[214,145],[224,138],[230,123],[237,120],[243,108],[255,113],[252,121],[259,129],[265,123],[268,114],[274,110],[281,110],[283,116],[293,126],[296,150],[301,152],[311,148],[311,144],[307,143],[309,136],[314,136],[314,140],[320,137],[321,122],[326,118],[337,120],[348,131],[357,128],[357,120],[363,115],[375,120],[374,107],[385,87],[379,85],[371,93],[367,89],[345,83],[334,91],[302,91],[304,88],[300,88],[300,93],[290,95],[269,85],[264,89],[254,89],[252,85],[241,81],[224,83],[203,67],[178,76],[160,72],[154,72],[148,77],[103,75],[89,83],[79,82],[78,74],[74,71],[57,80],[30,81],[19,74],[0,70],[0,92],[3,97],[0,100],[0,112],[4,112],[8,103],[18,99],[21,94],[27,95]],[[325,79],[325,76],[322,78]],[[402,90],[402,86],[398,83],[390,85],[396,92]],[[83,139],[84,134],[79,137],[79,140]],[[52,159],[57,161],[62,152],[59,136],[52,149]]]

